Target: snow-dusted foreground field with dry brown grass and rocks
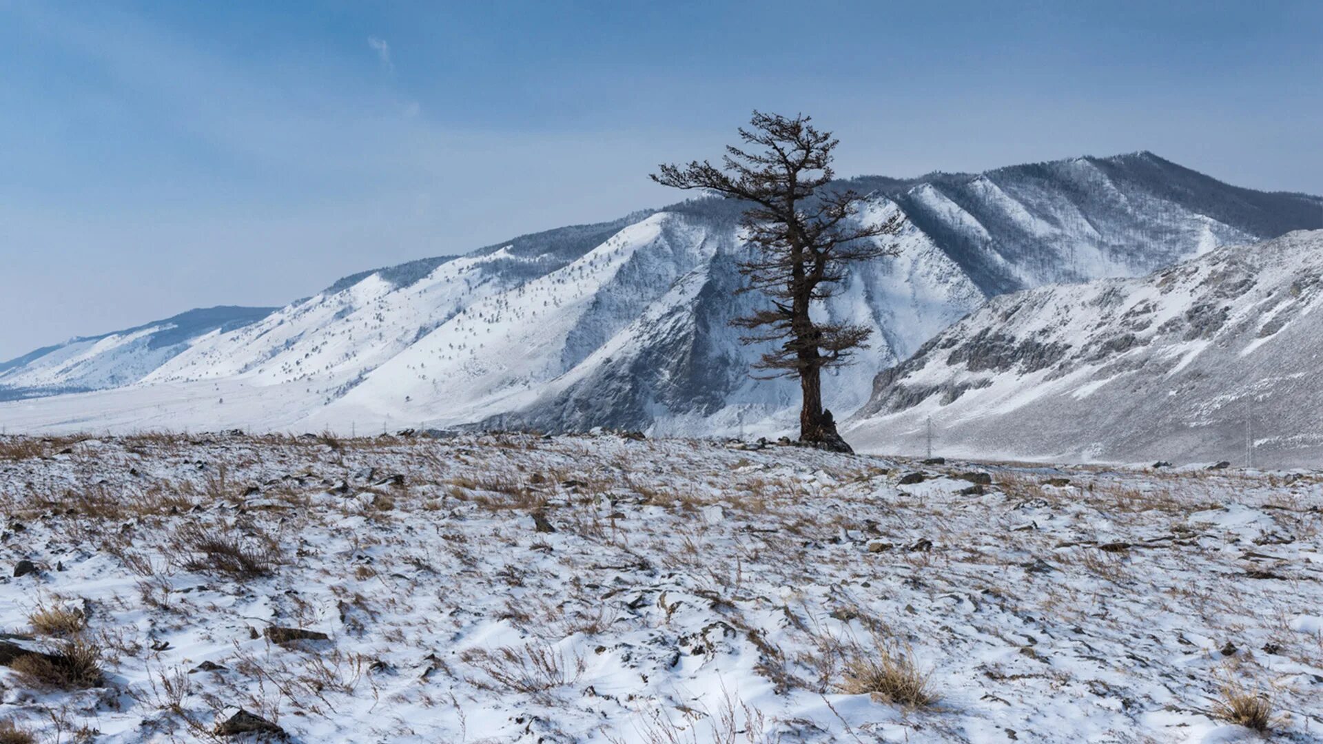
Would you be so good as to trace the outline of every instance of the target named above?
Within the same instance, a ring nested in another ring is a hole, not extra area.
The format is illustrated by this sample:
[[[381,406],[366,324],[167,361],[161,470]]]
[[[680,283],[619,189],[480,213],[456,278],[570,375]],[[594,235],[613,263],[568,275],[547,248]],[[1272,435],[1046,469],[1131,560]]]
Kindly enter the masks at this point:
[[[1316,473],[0,437],[0,507],[4,741],[1323,741]]]

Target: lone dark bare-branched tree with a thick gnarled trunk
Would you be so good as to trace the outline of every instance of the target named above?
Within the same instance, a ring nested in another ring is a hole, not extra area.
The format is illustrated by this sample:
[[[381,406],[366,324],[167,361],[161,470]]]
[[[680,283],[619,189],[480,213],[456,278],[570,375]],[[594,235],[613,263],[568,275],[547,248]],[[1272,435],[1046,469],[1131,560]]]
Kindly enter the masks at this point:
[[[741,225],[754,253],[740,262],[747,283],[738,293],[761,291],[771,307],[732,324],[747,331],[744,343],[782,342],[754,368],[771,371],[765,379],[799,377],[799,441],[851,451],[831,410],[823,409],[822,371],[848,364],[853,351],[867,346],[872,328],[819,322],[810,308],[840,289],[852,261],[896,254],[893,245],[875,238],[900,230],[901,216],[882,222],[857,220],[856,207],[864,197],[828,185],[837,140],[808,122],[802,114],[790,119],[754,111],[750,127],[740,128],[747,150],[726,146],[721,168],[695,160],[684,167],[662,165],[651,177],[662,185],[750,204]]]

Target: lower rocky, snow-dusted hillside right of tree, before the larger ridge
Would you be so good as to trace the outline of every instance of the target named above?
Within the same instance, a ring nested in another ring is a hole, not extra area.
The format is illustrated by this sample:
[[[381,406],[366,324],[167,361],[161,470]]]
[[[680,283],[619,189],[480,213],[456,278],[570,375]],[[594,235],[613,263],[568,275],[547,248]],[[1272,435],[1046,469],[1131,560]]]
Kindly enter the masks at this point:
[[[1320,306],[1323,230],[1002,295],[878,375],[847,436],[922,451],[931,420],[943,454],[1318,465]]]

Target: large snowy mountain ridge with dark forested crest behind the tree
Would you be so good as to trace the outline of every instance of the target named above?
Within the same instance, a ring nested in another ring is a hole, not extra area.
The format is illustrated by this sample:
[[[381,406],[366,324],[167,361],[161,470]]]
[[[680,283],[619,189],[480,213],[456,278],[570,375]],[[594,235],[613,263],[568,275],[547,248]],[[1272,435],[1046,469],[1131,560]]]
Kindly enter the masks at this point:
[[[1319,197],[1230,187],[1147,152],[851,185],[872,195],[861,218],[901,210],[908,222],[900,256],[859,266],[822,308],[876,330],[859,363],[824,381],[839,418],[868,400],[877,369],[991,295],[1140,275],[1323,226]],[[759,349],[729,327],[758,303],[733,295],[740,209],[696,200],[365,271],[168,359],[144,357],[131,384],[85,384],[114,389],[0,406],[0,418],[774,433],[795,421],[798,388],[751,380]]]

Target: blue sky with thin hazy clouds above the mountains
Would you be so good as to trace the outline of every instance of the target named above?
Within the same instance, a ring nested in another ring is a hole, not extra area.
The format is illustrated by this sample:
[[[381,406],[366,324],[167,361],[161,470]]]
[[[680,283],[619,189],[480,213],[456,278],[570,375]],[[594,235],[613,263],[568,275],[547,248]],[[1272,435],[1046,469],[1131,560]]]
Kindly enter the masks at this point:
[[[1323,193],[1323,3],[0,0],[0,359],[677,195],[754,107],[843,175],[1152,150]]]

